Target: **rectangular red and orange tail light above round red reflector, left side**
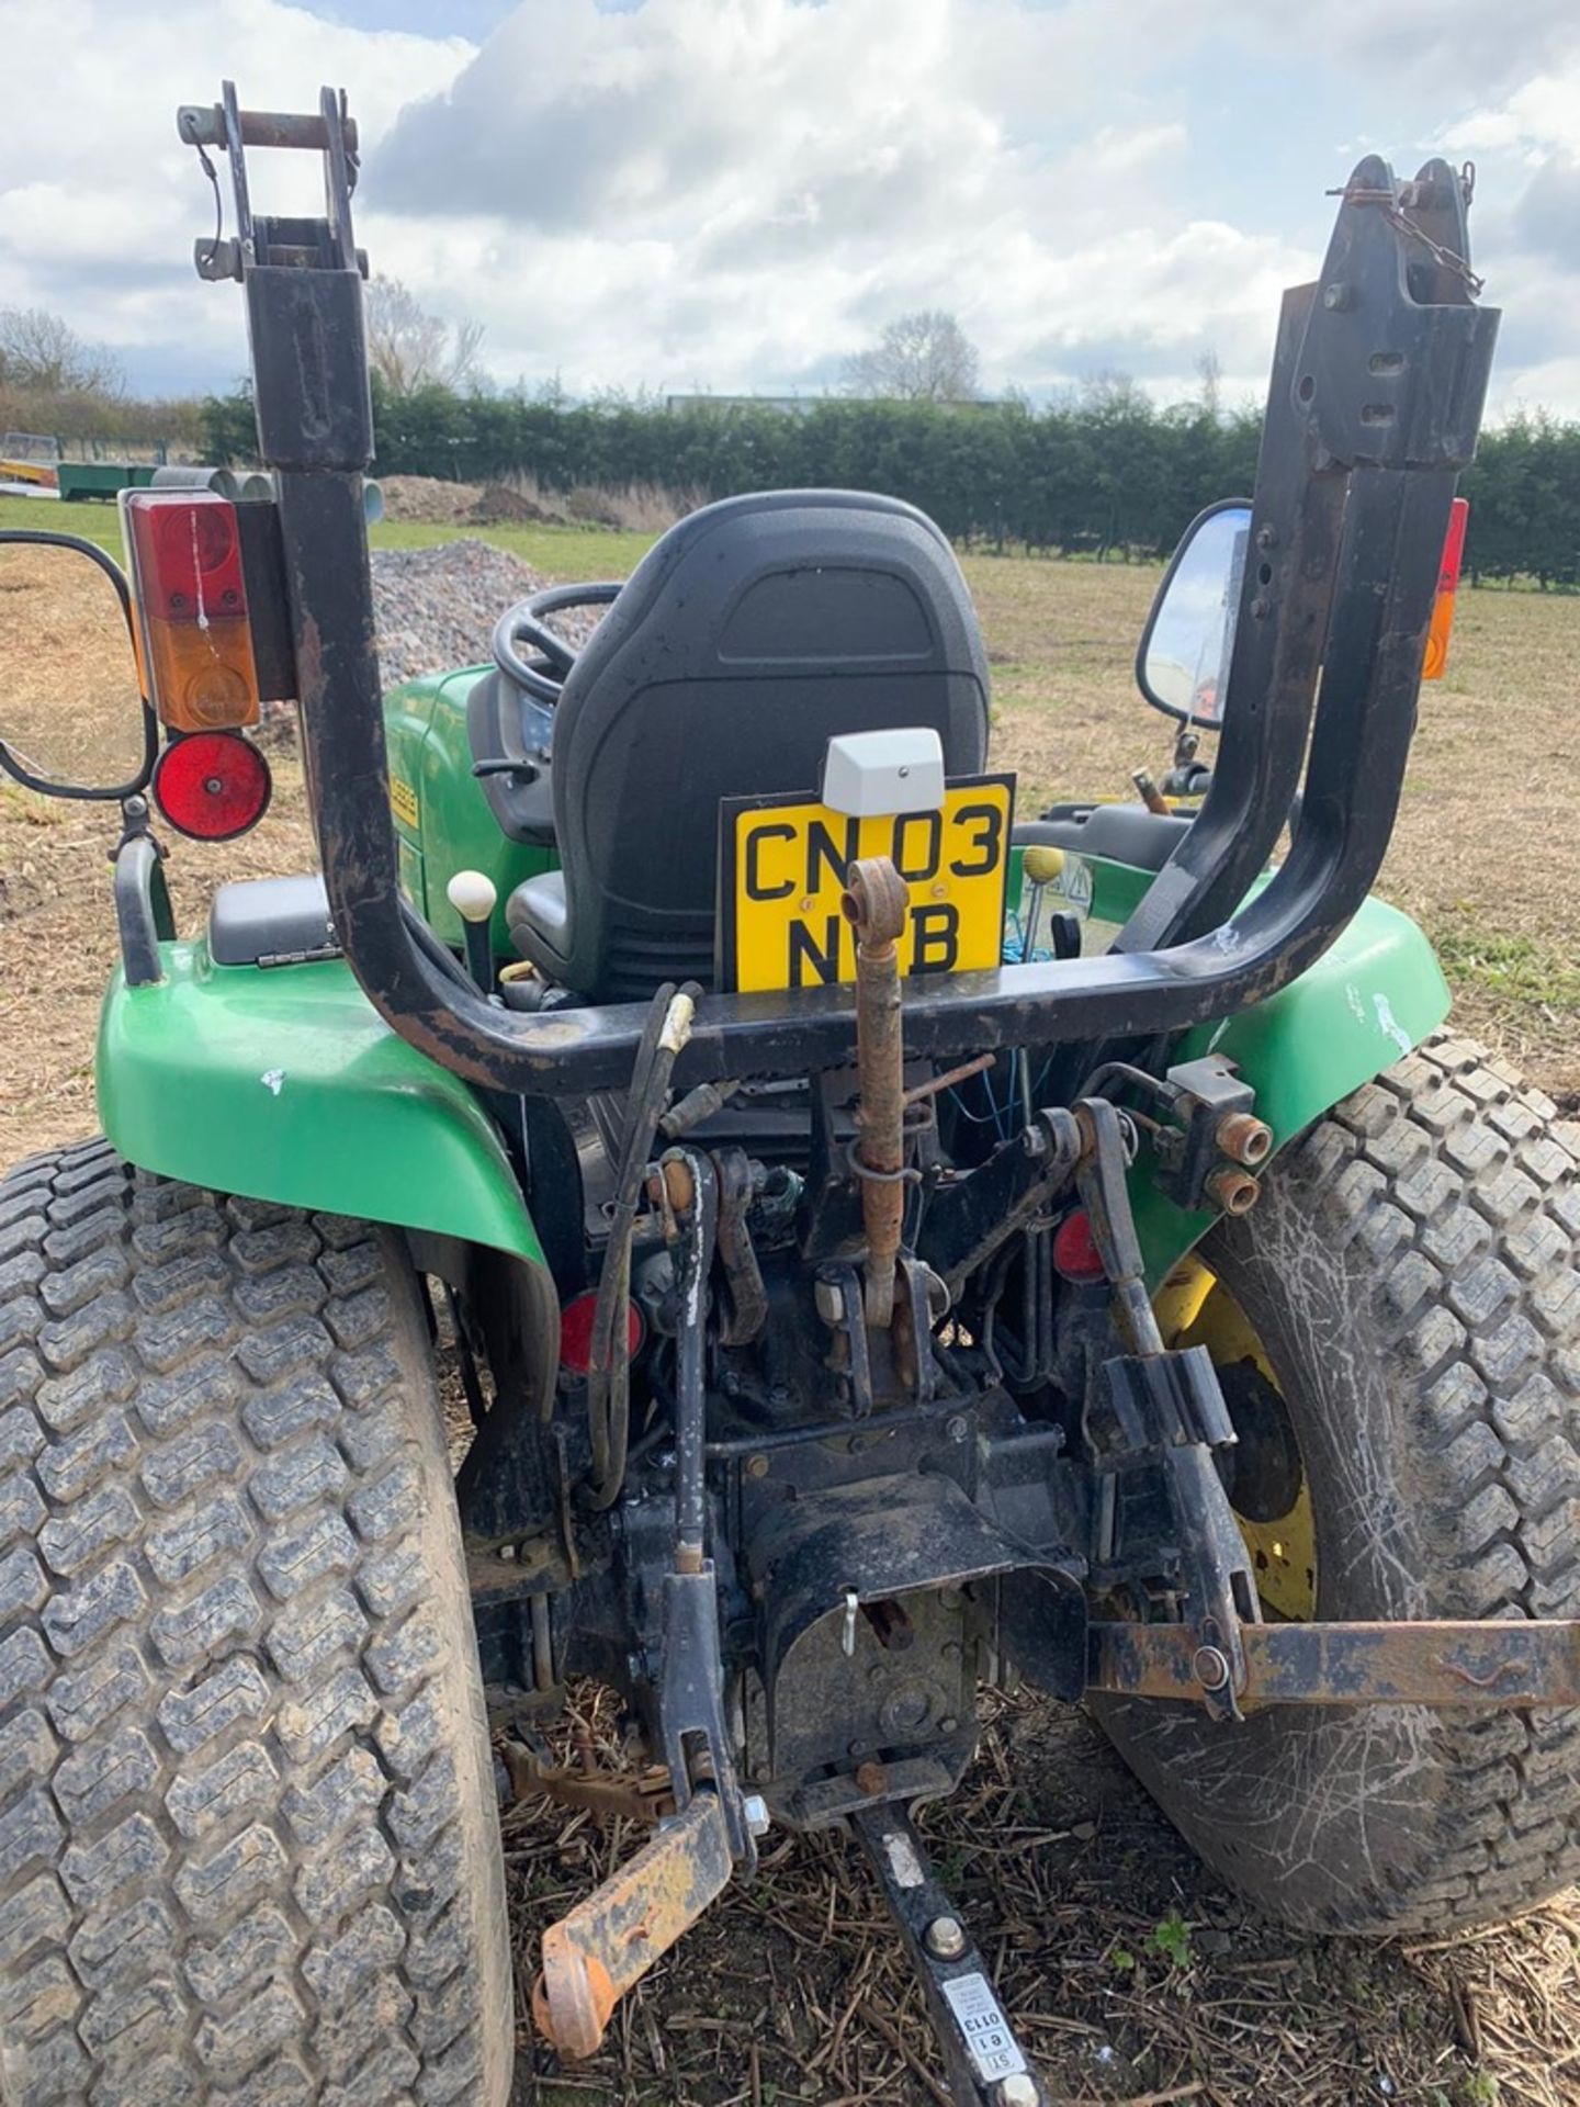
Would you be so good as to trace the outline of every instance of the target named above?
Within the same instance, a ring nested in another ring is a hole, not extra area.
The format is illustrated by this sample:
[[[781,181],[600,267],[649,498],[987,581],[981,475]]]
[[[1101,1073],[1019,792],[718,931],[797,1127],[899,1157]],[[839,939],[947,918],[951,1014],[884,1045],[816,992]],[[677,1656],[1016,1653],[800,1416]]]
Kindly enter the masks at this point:
[[[160,723],[171,731],[255,725],[259,687],[236,506],[215,491],[124,491],[120,508],[143,681]]]

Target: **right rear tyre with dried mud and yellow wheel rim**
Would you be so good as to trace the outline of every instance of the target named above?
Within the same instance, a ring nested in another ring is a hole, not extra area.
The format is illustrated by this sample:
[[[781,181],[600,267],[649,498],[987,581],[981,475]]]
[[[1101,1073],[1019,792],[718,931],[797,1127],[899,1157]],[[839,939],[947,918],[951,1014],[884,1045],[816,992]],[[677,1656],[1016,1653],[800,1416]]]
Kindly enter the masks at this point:
[[[1580,1616],[1580,1163],[1553,1117],[1439,1037],[1203,1247],[1293,1426],[1323,1618]],[[1580,1877],[1578,1711],[1095,1709],[1201,1856],[1289,1924],[1477,1924]]]

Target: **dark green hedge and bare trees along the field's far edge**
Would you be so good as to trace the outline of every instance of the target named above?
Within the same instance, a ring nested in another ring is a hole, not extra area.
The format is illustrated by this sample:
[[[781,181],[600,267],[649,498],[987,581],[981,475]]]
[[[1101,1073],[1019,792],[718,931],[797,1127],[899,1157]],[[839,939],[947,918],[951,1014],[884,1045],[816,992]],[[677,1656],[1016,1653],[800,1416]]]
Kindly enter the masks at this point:
[[[889,491],[929,512],[965,548],[1028,548],[1100,558],[1167,554],[1192,514],[1256,480],[1260,417],[1224,413],[1216,362],[1194,402],[1161,409],[1123,377],[1034,409],[963,400],[975,348],[954,316],[891,322],[849,360],[857,398],[767,402],[647,396],[573,402],[558,388],[482,386],[476,324],[430,316],[398,282],[369,287],[373,409],[383,474],[539,491],[683,493],[752,489]],[[0,310],[0,432],[70,434],[101,445],[158,436],[215,464],[255,457],[246,392],[137,402],[103,346],[38,308]],[[1485,432],[1462,483],[1466,567],[1479,579],[1580,584],[1580,424],[1544,411]]]

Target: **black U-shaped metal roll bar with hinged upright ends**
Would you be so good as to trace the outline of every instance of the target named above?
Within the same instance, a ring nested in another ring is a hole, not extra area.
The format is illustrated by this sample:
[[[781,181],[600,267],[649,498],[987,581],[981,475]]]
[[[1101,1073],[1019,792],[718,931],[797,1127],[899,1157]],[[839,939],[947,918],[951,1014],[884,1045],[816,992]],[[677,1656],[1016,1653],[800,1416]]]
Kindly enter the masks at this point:
[[[308,786],[352,971],[402,1039],[472,1083],[567,1096],[624,1085],[647,1005],[497,1009],[440,969],[400,900],[362,510],[373,413],[345,99],[324,88],[316,122],[253,118],[228,82],[217,116],[183,122],[183,137],[223,143],[232,169],[236,238],[198,242],[198,263],[238,276],[246,295]],[[322,150],[322,221],[253,219],[244,143],[265,137]],[[1319,282],[1285,297],[1220,765],[1117,948],[910,982],[910,1054],[1152,1037],[1228,1016],[1304,971],[1363,902],[1399,803],[1449,501],[1498,329],[1475,299],[1466,202],[1441,160],[1395,183],[1367,156],[1340,196]],[[1291,853],[1247,902],[1302,756]],[[851,988],[714,995],[697,1005],[676,1083],[836,1066],[853,1039]]]

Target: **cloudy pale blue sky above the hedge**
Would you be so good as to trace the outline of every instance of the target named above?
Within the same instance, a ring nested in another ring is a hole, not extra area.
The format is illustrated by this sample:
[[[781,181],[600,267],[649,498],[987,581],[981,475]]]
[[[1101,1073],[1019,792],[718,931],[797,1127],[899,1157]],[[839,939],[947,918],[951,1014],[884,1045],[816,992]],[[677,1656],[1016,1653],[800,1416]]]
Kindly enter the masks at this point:
[[[223,388],[240,293],[175,105],[360,118],[358,240],[501,383],[819,392],[910,308],[990,390],[1260,396],[1363,152],[1479,169],[1494,409],[1580,417],[1578,0],[0,0],[0,306]],[[34,91],[15,93],[32,82]],[[305,209],[299,156],[253,202]]]

